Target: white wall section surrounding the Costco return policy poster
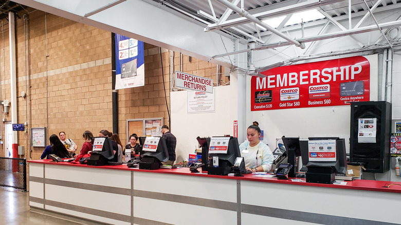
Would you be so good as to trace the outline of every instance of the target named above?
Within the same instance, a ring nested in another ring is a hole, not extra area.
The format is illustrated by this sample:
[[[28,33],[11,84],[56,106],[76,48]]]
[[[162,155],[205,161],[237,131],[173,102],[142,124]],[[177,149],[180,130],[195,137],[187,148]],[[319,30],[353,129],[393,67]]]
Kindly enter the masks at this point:
[[[215,87],[214,113],[187,114],[187,91],[170,92],[171,133],[177,138],[176,161],[188,159],[198,146],[196,137],[233,135],[237,106],[234,85]]]

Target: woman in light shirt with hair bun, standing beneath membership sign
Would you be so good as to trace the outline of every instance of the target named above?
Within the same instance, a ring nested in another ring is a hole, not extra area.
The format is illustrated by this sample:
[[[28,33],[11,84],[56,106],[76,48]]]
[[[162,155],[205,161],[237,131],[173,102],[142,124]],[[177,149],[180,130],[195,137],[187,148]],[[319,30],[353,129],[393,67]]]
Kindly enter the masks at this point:
[[[269,172],[273,163],[273,154],[269,146],[259,140],[260,128],[250,125],[246,130],[248,141],[240,144],[241,156],[245,160],[245,168],[252,172]]]

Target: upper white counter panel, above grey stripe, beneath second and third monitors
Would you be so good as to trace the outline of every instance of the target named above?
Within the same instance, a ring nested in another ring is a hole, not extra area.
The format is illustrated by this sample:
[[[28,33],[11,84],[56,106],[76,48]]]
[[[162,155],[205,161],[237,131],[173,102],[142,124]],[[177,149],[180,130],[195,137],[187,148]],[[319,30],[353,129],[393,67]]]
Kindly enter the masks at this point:
[[[134,190],[236,202],[236,180],[134,172]]]

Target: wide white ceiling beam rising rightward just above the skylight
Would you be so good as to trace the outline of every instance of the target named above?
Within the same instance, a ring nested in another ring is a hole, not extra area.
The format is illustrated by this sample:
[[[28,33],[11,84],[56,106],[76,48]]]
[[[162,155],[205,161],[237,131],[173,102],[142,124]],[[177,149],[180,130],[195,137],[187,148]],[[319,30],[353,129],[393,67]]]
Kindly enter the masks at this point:
[[[313,8],[316,8],[319,6],[334,4],[334,3],[343,2],[343,1],[344,0],[321,0],[321,1],[320,0],[310,0],[310,1],[307,1],[304,3],[297,3],[297,4],[294,4],[291,6],[286,6],[286,7],[282,7],[282,8],[278,8],[278,9],[274,9],[274,10],[269,10],[269,11],[265,11],[265,12],[252,14],[252,16],[263,17],[263,18],[277,17],[277,16],[286,15],[289,13],[296,13],[296,12],[300,12],[300,11],[313,9]],[[234,18],[229,21],[225,21],[224,23],[221,23],[221,24],[208,25],[204,30],[205,31],[221,30],[221,29],[225,29],[227,27],[238,26],[238,25],[247,24],[247,23],[250,23],[249,20],[247,20],[244,17],[240,17],[240,18]]]

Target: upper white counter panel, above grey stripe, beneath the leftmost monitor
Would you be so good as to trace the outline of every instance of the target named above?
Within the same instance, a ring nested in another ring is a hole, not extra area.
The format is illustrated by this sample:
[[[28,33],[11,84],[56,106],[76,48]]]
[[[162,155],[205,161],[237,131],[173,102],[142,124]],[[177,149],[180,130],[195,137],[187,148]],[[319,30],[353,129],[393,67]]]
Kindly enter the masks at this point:
[[[131,189],[131,171],[46,164],[45,176],[47,179]]]

